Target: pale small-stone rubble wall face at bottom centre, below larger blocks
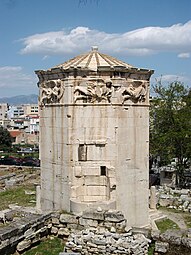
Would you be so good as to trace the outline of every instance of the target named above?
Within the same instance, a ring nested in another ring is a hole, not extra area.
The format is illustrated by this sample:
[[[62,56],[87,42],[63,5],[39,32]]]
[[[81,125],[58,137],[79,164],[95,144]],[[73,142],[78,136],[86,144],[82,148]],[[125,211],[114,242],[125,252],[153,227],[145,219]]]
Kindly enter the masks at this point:
[[[82,230],[69,236],[67,252],[80,254],[148,254],[150,240],[143,234],[112,233],[109,231]]]

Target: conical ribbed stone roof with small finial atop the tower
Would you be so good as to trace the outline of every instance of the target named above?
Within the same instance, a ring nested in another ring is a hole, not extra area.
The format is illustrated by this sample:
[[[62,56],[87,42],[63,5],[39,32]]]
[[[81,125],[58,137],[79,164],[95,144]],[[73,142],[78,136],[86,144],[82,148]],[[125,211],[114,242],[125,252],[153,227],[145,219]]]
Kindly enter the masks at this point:
[[[97,46],[93,46],[91,52],[78,55],[64,62],[63,64],[55,66],[54,68],[62,68],[64,70],[67,70],[70,68],[81,68],[81,69],[97,71],[99,67],[106,67],[106,68],[120,67],[125,69],[134,68],[133,66],[123,61],[120,61],[109,55],[98,52]]]

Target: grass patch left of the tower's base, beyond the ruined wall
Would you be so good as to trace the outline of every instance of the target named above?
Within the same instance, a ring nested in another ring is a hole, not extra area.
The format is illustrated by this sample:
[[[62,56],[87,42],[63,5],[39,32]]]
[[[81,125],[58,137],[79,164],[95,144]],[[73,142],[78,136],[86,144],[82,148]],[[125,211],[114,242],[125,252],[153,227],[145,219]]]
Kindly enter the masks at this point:
[[[32,203],[32,201],[36,200],[36,195],[25,194],[25,190],[35,191],[35,186],[19,186],[0,192],[0,210],[8,208],[9,204],[17,204],[20,206],[35,206],[35,203]]]

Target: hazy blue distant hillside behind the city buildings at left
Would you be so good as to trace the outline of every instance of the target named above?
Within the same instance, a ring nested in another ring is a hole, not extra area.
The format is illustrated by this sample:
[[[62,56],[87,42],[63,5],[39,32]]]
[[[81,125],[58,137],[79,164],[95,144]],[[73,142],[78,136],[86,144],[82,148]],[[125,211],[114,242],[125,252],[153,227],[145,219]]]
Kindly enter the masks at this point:
[[[18,105],[18,104],[37,104],[38,95],[20,95],[14,97],[2,97],[0,98],[0,103],[8,103],[9,105]]]

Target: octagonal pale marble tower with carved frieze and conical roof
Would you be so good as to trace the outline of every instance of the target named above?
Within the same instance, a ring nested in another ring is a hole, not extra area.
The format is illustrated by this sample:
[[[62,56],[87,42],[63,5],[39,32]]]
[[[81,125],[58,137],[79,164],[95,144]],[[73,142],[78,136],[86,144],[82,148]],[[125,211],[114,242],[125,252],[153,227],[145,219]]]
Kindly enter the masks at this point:
[[[148,224],[149,79],[92,51],[38,70],[42,210],[122,211]]]

